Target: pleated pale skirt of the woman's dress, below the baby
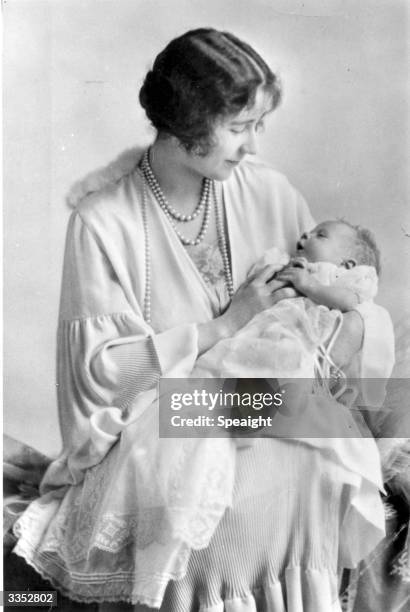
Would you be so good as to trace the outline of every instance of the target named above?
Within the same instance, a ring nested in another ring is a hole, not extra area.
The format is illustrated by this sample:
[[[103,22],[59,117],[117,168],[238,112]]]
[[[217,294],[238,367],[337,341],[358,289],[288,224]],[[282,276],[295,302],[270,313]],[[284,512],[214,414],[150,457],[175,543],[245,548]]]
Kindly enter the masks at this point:
[[[233,507],[168,585],[161,612],[341,611],[339,538],[355,477],[303,442],[258,441],[238,455]],[[356,533],[361,553],[382,537],[377,516],[372,534]]]

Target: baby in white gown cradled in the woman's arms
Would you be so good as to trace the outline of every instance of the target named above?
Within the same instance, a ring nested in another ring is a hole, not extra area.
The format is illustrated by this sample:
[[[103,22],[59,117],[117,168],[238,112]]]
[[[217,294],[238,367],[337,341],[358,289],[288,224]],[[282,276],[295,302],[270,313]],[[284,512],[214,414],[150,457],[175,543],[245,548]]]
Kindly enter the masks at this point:
[[[277,267],[277,288],[291,285],[301,297],[276,303],[217,343],[197,361],[196,377],[314,379],[338,370],[330,352],[342,313],[377,294],[380,254],[372,234],[346,221],[324,221],[301,236],[294,257],[272,248],[250,274],[267,264]],[[393,338],[388,342],[393,346]],[[392,363],[383,365],[386,378],[391,367]],[[347,375],[359,378],[363,371],[356,359]]]

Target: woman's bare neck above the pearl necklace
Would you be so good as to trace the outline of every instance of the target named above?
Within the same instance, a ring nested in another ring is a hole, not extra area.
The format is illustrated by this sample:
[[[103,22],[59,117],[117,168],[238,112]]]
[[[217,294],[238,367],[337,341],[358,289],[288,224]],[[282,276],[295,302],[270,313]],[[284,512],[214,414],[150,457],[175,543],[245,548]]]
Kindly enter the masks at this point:
[[[186,163],[187,153],[176,138],[157,138],[150,163],[166,199],[179,212],[190,212],[198,203],[203,177]]]

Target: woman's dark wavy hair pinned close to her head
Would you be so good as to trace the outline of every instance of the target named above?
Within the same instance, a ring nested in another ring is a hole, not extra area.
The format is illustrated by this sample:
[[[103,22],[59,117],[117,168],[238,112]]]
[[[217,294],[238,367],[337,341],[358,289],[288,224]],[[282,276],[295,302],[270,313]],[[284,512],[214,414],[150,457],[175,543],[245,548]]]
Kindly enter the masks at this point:
[[[157,56],[139,99],[160,135],[206,155],[215,122],[250,108],[260,86],[273,110],[280,84],[260,55],[229,32],[201,28],[175,38]]]

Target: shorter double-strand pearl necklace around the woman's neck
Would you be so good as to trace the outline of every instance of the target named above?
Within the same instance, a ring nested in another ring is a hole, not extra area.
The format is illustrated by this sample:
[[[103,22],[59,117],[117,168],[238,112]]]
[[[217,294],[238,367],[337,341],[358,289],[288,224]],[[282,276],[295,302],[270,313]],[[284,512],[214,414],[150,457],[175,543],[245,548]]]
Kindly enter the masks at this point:
[[[211,212],[210,193],[211,193],[212,181],[210,179],[204,179],[203,185],[202,185],[201,197],[200,197],[198,205],[196,206],[195,210],[190,215],[183,215],[182,213],[175,210],[173,206],[170,206],[167,199],[165,198],[165,195],[161,187],[159,186],[159,183],[155,177],[155,174],[152,171],[151,164],[149,162],[149,150],[144,153],[144,156],[141,160],[141,170],[142,170],[145,180],[147,181],[152,193],[155,196],[155,199],[157,200],[158,204],[164,211],[166,217],[170,221],[172,227],[174,228],[182,244],[184,244],[185,246],[187,245],[197,246],[198,244],[200,244],[205,238],[206,232],[208,231],[208,227],[209,227],[209,216]],[[175,223],[175,220],[182,221],[183,223],[192,221],[199,215],[200,212],[202,212],[204,208],[205,208],[204,218],[203,218],[201,228],[199,230],[197,237],[193,239],[186,238],[179,231]]]

